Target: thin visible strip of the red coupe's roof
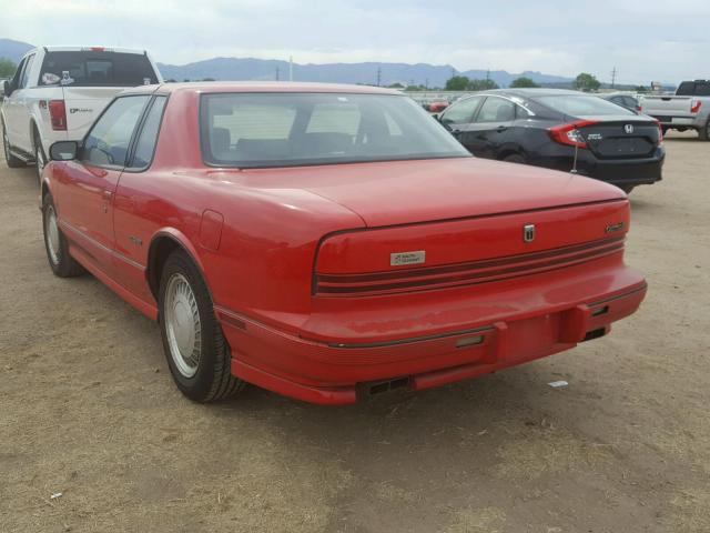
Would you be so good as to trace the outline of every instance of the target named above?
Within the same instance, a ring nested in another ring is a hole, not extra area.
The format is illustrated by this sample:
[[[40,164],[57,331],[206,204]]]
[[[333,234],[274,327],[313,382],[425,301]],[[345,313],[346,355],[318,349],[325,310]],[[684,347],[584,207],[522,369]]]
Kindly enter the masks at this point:
[[[382,87],[352,86],[343,83],[306,83],[292,81],[196,81],[184,83],[162,83],[161,86],[140,86],[126,89],[123,93],[145,94],[159,91],[173,92],[334,92],[348,94],[390,94],[404,95],[395,89]]]

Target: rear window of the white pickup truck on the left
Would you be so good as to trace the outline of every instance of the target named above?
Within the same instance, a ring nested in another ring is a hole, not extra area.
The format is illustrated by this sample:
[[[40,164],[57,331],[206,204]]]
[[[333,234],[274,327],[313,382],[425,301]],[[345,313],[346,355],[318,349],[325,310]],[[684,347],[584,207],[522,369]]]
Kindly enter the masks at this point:
[[[41,86],[136,87],[150,83],[158,83],[158,78],[142,53],[49,52],[40,71]]]

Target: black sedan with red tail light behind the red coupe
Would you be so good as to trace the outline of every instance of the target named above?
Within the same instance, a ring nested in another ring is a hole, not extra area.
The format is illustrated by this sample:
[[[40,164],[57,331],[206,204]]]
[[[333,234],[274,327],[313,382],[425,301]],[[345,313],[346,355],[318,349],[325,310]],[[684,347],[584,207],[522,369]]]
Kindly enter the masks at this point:
[[[462,99],[437,118],[479,158],[575,172],[626,192],[661,179],[658,122],[591,94],[503,89]]]

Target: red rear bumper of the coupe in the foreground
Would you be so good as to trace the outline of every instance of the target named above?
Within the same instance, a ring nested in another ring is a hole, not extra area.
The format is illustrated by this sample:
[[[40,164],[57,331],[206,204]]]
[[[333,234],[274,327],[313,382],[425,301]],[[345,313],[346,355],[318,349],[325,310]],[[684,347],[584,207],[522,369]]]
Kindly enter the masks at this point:
[[[348,404],[365,383],[406,379],[412,389],[423,390],[568,350],[606,334],[612,322],[633,313],[646,294],[643,279],[626,268],[577,282],[520,282],[519,291],[500,292],[495,311],[485,300],[459,301],[456,305],[467,309],[455,311],[469,313],[464,326],[434,329],[432,318],[415,335],[363,342],[311,340],[311,332],[285,332],[215,309],[232,346],[234,375],[306,402]],[[598,282],[606,290],[598,291]]]

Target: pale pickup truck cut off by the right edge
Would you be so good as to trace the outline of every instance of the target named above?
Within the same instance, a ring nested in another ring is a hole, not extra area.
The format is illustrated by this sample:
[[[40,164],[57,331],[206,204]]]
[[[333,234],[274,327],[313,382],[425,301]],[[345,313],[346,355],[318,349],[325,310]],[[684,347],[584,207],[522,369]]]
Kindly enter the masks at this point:
[[[696,130],[710,141],[710,80],[683,81],[676,95],[643,95],[641,112],[667,130]]]

